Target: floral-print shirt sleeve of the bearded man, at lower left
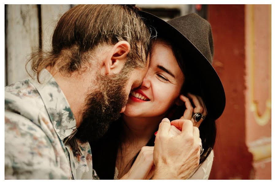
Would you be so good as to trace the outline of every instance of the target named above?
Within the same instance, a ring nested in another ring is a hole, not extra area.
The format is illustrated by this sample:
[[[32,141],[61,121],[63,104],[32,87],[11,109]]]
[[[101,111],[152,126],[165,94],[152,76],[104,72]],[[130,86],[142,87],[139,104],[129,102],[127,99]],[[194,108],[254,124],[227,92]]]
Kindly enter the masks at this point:
[[[38,125],[5,110],[5,179],[69,179],[57,159]]]

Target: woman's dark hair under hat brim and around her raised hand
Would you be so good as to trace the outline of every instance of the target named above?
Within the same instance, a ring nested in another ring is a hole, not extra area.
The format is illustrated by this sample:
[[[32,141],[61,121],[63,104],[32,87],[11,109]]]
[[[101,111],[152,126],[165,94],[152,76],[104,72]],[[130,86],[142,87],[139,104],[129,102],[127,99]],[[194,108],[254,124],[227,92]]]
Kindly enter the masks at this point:
[[[162,39],[166,41],[165,36]],[[192,67],[190,66],[190,63],[193,62],[193,56],[191,56],[189,52],[186,52],[185,48],[182,48],[181,44],[178,44],[175,42],[169,42],[169,41],[166,41],[166,42],[171,45],[172,51],[178,62],[178,65],[181,68],[183,74],[185,74],[185,80],[181,89],[181,94],[183,94],[184,96],[187,96],[187,93],[190,92],[191,94],[200,96],[203,102],[206,102],[205,99],[208,98],[208,96],[205,96],[205,93],[201,87],[202,86],[201,77],[200,75],[197,75],[194,70],[191,70]],[[191,101],[191,104],[193,105],[193,107],[195,107],[192,101]],[[183,116],[185,109],[186,109],[185,105],[182,105],[182,106],[174,105],[171,108],[171,111],[173,111],[172,113],[173,116],[169,118],[170,121],[179,119],[179,117]],[[208,112],[208,109],[207,109],[207,112]],[[199,160],[199,163],[201,164],[205,161],[205,159],[208,157],[208,155],[210,154],[210,152],[214,147],[216,135],[217,135],[216,122],[212,117],[207,115],[205,120],[201,122],[198,129],[200,132],[202,147],[204,149]]]

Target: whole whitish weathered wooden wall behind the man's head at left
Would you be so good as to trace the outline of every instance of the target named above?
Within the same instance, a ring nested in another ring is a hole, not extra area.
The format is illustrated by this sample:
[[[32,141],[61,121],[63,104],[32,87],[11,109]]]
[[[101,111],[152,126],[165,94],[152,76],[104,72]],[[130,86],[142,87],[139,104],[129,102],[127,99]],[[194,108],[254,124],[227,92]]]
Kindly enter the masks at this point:
[[[50,49],[55,25],[71,6],[5,5],[5,85],[29,77],[29,56]]]

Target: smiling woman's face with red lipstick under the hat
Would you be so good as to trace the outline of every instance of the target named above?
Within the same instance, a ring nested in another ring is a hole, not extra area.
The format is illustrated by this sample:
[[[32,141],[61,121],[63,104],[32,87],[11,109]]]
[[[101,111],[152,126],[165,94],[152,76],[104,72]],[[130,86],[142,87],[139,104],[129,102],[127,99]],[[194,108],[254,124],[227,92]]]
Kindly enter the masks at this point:
[[[142,86],[128,98],[128,117],[155,117],[167,112],[180,94],[184,75],[170,46],[157,40]]]

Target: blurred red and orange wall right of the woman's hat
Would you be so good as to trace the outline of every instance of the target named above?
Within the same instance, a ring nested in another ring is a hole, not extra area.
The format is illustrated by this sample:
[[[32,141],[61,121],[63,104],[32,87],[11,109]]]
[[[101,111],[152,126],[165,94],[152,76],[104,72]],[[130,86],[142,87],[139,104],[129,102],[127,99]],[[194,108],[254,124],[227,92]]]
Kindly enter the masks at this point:
[[[271,179],[271,5],[209,5],[226,94],[212,179]]]

